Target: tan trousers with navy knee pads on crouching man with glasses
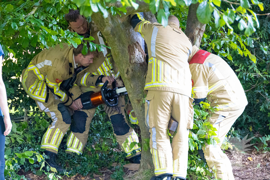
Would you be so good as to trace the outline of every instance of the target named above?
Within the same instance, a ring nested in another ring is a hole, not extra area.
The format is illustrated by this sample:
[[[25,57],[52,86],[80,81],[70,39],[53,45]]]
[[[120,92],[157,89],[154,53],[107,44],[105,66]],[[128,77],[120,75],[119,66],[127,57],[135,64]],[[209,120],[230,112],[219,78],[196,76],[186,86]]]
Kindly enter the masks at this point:
[[[52,124],[49,125],[41,141],[41,148],[47,151],[58,153],[59,145],[70,127],[71,133],[66,142],[66,152],[76,152],[82,154],[83,148],[88,139],[90,123],[95,115],[95,108],[89,110],[77,110],[73,113],[74,123],[71,124],[70,111],[60,100],[55,100],[46,107],[46,104],[36,101],[40,110],[44,111],[52,118]]]

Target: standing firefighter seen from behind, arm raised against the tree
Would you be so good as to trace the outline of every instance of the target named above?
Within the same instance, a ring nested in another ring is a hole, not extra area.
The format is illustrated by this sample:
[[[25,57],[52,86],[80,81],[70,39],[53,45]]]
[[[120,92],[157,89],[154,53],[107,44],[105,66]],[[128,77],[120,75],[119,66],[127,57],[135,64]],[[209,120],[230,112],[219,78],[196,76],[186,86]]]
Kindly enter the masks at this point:
[[[151,180],[185,179],[188,161],[188,135],[193,128],[193,99],[188,57],[192,43],[179,28],[179,20],[169,16],[166,27],[131,15],[131,25],[148,47],[148,73],[144,91],[146,125],[155,167]],[[179,124],[170,143],[167,133],[170,117]]]

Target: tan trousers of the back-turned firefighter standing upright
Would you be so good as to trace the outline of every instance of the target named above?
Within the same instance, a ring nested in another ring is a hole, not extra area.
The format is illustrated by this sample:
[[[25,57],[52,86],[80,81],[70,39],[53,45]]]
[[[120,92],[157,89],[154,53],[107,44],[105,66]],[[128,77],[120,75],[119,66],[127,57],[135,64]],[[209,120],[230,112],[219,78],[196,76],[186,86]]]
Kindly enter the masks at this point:
[[[187,176],[188,134],[193,127],[193,99],[178,93],[149,90],[145,101],[146,125],[156,176]],[[170,117],[179,124],[170,143],[167,133]]]

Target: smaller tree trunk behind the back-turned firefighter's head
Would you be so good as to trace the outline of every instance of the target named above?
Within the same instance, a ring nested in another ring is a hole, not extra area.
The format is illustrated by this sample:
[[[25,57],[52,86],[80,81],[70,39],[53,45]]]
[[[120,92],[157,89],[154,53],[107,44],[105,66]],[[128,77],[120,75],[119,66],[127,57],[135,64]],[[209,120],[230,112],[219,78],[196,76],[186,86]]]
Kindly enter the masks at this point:
[[[189,6],[185,34],[190,38],[193,45],[200,47],[206,24],[201,23],[197,18],[196,11],[198,6],[199,3]]]

